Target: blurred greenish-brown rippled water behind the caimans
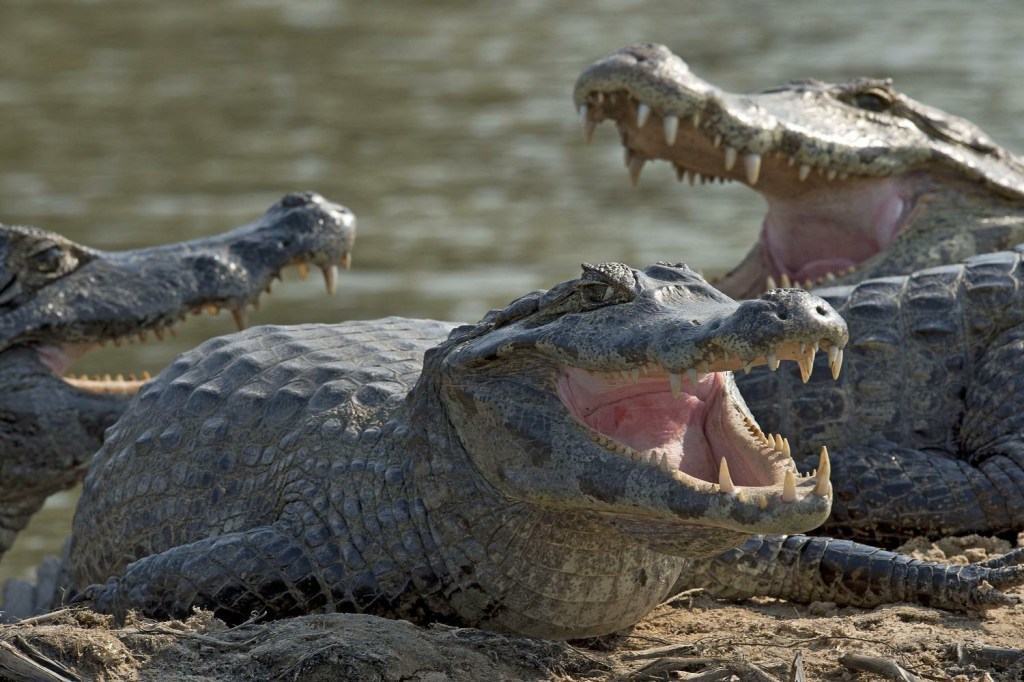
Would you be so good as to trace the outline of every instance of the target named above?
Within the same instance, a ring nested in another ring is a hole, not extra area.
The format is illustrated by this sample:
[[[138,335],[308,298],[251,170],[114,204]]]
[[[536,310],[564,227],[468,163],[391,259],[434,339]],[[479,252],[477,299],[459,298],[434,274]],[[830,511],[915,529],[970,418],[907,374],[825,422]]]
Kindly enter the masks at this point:
[[[1024,151],[1022,26],[1013,2],[4,0],[0,221],[123,249],[315,189],[358,215],[354,267],[330,298],[286,276],[251,324],[476,319],[582,261],[721,271],[759,229],[743,187],[662,164],[632,189],[610,127],[583,144],[570,94],[594,59],[662,42],[736,91],[892,76]],[[196,318],[79,369],[156,371],[232,329]],[[0,578],[59,546],[73,504],[51,501]]]

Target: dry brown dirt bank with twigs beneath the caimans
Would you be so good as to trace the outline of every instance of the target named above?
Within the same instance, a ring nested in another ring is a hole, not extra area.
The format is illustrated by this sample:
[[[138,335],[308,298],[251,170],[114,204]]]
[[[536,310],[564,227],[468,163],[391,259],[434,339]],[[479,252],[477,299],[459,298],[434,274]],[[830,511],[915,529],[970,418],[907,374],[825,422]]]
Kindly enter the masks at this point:
[[[976,561],[1009,547],[974,538],[904,550]],[[888,672],[854,671],[856,654]],[[630,633],[570,644],[352,614],[227,628],[201,612],[185,622],[134,619],[115,628],[108,616],[63,611],[0,626],[4,675],[33,682],[1022,680],[1024,606],[967,616],[908,605],[731,604],[693,592]]]

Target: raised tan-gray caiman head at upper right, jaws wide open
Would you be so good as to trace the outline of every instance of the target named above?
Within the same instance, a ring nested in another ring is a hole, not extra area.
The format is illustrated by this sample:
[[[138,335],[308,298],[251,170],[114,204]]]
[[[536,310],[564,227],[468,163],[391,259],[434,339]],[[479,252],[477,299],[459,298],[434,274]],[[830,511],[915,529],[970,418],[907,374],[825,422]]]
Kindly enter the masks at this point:
[[[852,284],[1024,242],[1024,164],[890,81],[804,80],[733,94],[647,44],[592,65],[573,100],[588,139],[598,122],[614,121],[634,183],[647,161],[663,159],[681,180],[723,178],[761,193],[768,212],[758,242],[716,283],[736,298],[772,288],[768,278]]]

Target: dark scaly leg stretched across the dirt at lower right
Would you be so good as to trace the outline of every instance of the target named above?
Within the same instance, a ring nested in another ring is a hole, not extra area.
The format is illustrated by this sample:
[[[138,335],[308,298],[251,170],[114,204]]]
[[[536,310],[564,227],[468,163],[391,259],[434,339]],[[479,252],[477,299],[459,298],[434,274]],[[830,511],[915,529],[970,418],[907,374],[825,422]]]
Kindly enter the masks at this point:
[[[777,597],[873,607],[905,601],[974,611],[1016,604],[1000,592],[1024,585],[1024,547],[976,564],[943,564],[808,536],[758,536],[712,559],[693,560],[676,584],[723,599]]]

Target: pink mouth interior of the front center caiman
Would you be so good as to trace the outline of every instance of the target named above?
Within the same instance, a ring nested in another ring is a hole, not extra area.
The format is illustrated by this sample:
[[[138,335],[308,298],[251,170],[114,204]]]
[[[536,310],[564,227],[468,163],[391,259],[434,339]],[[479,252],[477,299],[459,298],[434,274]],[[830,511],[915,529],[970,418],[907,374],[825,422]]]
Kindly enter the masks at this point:
[[[720,374],[703,375],[695,388],[684,375],[675,398],[664,373],[634,384],[615,374],[569,369],[558,380],[558,395],[591,429],[640,453],[667,453],[672,469],[718,482],[719,462],[725,457],[734,482],[765,484],[763,473],[732,445],[735,436],[723,425]]]

